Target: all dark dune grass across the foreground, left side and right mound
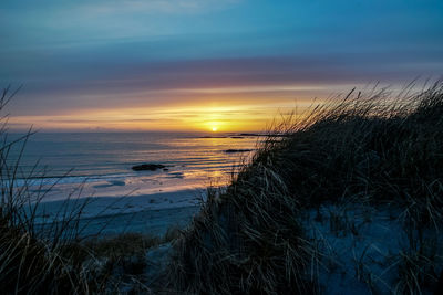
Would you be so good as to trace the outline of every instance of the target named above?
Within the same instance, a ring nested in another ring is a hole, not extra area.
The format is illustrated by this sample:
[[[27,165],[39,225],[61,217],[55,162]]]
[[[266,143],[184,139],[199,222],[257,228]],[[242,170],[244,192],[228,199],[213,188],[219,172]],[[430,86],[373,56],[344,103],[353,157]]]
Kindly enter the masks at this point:
[[[18,169],[6,161],[6,145],[0,155],[2,292],[339,294],[323,280],[338,263],[327,239],[310,232],[310,217],[320,226],[328,223],[323,235],[362,241],[365,224],[381,212],[405,236],[378,263],[382,273],[391,273],[389,280],[372,273],[368,251],[357,249],[358,242],[356,253],[362,254],[354,268],[337,277],[352,273],[368,294],[432,294],[443,266],[443,84],[409,91],[351,92],[296,114],[271,131],[279,136],[261,144],[227,189],[209,190],[202,212],[178,238],[81,241],[75,212],[45,238],[32,225],[32,210],[25,210],[35,196],[11,181]],[[7,98],[6,92],[2,105]],[[346,210],[334,210],[343,204]],[[361,208],[362,222],[349,214]],[[166,242],[172,243],[168,265],[155,281],[141,280],[146,265],[134,257]],[[351,287],[349,294],[357,294]]]

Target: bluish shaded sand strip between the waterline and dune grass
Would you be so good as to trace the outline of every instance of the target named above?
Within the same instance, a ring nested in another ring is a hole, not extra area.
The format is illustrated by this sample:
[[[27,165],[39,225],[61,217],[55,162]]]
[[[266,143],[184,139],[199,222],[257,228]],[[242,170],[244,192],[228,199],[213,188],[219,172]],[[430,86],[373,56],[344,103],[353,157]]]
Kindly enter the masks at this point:
[[[82,236],[138,232],[162,235],[169,228],[184,228],[205,198],[202,189],[131,197],[93,197],[41,202],[35,224],[61,222],[64,211],[80,214]],[[66,210],[68,209],[68,210]]]

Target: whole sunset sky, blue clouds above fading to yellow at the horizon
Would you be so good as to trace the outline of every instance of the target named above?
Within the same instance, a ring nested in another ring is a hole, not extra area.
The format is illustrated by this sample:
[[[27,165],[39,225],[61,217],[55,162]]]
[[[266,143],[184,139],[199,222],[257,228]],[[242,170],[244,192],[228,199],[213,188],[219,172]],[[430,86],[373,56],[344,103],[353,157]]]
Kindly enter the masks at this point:
[[[441,0],[2,0],[10,128],[258,131],[443,74]]]

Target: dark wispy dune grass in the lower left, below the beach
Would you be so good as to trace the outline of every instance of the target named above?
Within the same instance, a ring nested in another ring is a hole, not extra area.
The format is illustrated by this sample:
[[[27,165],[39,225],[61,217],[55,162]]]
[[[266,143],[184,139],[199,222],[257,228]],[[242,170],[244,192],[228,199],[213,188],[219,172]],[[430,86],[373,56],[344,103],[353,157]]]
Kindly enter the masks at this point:
[[[0,113],[16,93],[10,87],[0,93]],[[120,293],[123,280],[143,272],[146,251],[175,239],[177,230],[162,238],[123,233],[85,239],[80,218],[90,199],[80,198],[82,186],[66,192],[65,202],[52,212],[54,221],[45,220],[39,206],[63,177],[47,181],[39,164],[30,171],[21,170],[32,135],[29,130],[11,139],[8,116],[0,117],[0,293]],[[11,156],[13,149],[19,152]]]

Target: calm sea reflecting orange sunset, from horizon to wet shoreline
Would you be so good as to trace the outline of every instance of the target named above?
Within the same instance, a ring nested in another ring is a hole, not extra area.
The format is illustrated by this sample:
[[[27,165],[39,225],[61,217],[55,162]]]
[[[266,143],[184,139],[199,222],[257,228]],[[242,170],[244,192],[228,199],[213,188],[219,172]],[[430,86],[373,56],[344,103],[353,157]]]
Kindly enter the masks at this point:
[[[64,186],[87,182],[91,190],[86,193],[99,197],[150,194],[225,185],[251,155],[225,150],[255,149],[257,141],[256,136],[233,134],[38,133],[29,138],[19,167],[27,176],[39,162],[45,181]],[[18,151],[16,147],[9,158],[16,159]],[[132,170],[146,162],[162,164],[167,170]]]

